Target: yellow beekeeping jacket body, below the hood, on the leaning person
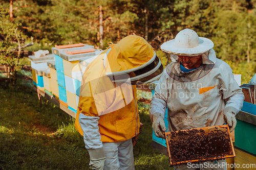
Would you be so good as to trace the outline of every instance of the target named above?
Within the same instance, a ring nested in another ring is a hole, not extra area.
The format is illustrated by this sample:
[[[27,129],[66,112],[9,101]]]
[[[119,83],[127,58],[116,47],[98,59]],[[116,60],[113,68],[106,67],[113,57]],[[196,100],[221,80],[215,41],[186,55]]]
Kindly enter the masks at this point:
[[[136,85],[113,83],[105,76],[104,57],[110,50],[103,51],[84,71],[75,127],[83,135],[80,113],[99,116],[101,141],[119,142],[139,133],[137,90]]]

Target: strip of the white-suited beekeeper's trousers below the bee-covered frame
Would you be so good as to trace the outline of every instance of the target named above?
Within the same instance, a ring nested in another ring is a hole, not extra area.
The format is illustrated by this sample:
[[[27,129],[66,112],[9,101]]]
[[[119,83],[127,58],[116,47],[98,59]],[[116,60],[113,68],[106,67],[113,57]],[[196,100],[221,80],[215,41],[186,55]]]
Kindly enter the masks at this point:
[[[175,170],[227,170],[226,160],[207,161],[203,163],[188,163],[187,165],[175,166]]]

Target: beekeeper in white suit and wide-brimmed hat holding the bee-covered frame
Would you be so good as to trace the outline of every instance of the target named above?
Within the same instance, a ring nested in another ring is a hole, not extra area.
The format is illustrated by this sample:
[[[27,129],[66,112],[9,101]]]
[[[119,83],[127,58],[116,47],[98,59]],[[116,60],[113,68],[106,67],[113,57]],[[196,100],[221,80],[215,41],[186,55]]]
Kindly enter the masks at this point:
[[[164,138],[166,108],[168,131],[225,123],[230,131],[236,127],[235,116],[243,106],[244,95],[232,69],[216,58],[212,47],[211,40],[199,37],[190,29],[180,31],[174,40],[161,45],[172,62],[164,69],[151,101],[150,116],[156,136]],[[225,160],[209,163],[222,162]],[[196,169],[193,167],[196,166],[181,165],[176,169]],[[226,169],[225,166],[212,167]]]

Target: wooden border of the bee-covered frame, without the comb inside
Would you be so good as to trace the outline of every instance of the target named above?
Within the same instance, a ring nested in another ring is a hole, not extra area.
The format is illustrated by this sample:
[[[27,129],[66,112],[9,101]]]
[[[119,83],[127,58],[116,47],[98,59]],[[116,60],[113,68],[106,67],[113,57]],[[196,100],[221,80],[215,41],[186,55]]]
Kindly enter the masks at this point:
[[[232,138],[231,138],[231,135],[230,135],[230,131],[229,131],[229,127],[228,125],[220,125],[220,126],[210,126],[210,127],[203,127],[203,128],[195,128],[195,129],[211,129],[211,128],[226,128],[227,131],[228,131],[228,135],[229,135],[229,138],[230,138],[230,147],[231,147],[231,151],[232,151],[232,155],[226,155],[226,156],[223,156],[223,157],[215,157],[211,160],[217,160],[217,159],[224,159],[224,158],[231,158],[231,157],[235,157],[236,154],[234,153],[234,147],[233,147],[233,143],[232,143]],[[181,131],[189,131],[189,130],[193,130],[193,129],[186,129],[186,130],[181,130]],[[188,162],[198,162],[199,160],[198,159],[195,159],[195,160],[189,160],[189,161],[181,161],[181,162],[172,162],[172,157],[170,156],[170,150],[169,150],[169,141],[168,141],[168,135],[170,134],[170,132],[164,132],[164,135],[165,135],[165,140],[166,140],[166,145],[167,145],[167,150],[168,150],[168,155],[169,155],[169,162],[170,162],[170,166],[173,166],[173,165],[177,165],[177,164],[181,164],[181,163],[188,163]],[[200,160],[200,161],[205,161],[206,159],[203,159],[203,160]]]

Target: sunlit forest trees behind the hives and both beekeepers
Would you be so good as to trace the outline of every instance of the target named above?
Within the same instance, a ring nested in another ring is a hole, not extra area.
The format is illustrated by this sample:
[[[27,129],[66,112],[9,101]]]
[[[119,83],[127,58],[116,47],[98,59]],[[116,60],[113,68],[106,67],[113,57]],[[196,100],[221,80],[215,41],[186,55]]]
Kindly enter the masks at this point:
[[[0,6],[0,34],[18,32],[24,44],[34,42],[28,51],[74,43],[104,50],[109,41],[139,35],[165,65],[160,45],[189,28],[215,43],[217,58],[242,75],[242,84],[256,71],[255,0],[0,0]]]

